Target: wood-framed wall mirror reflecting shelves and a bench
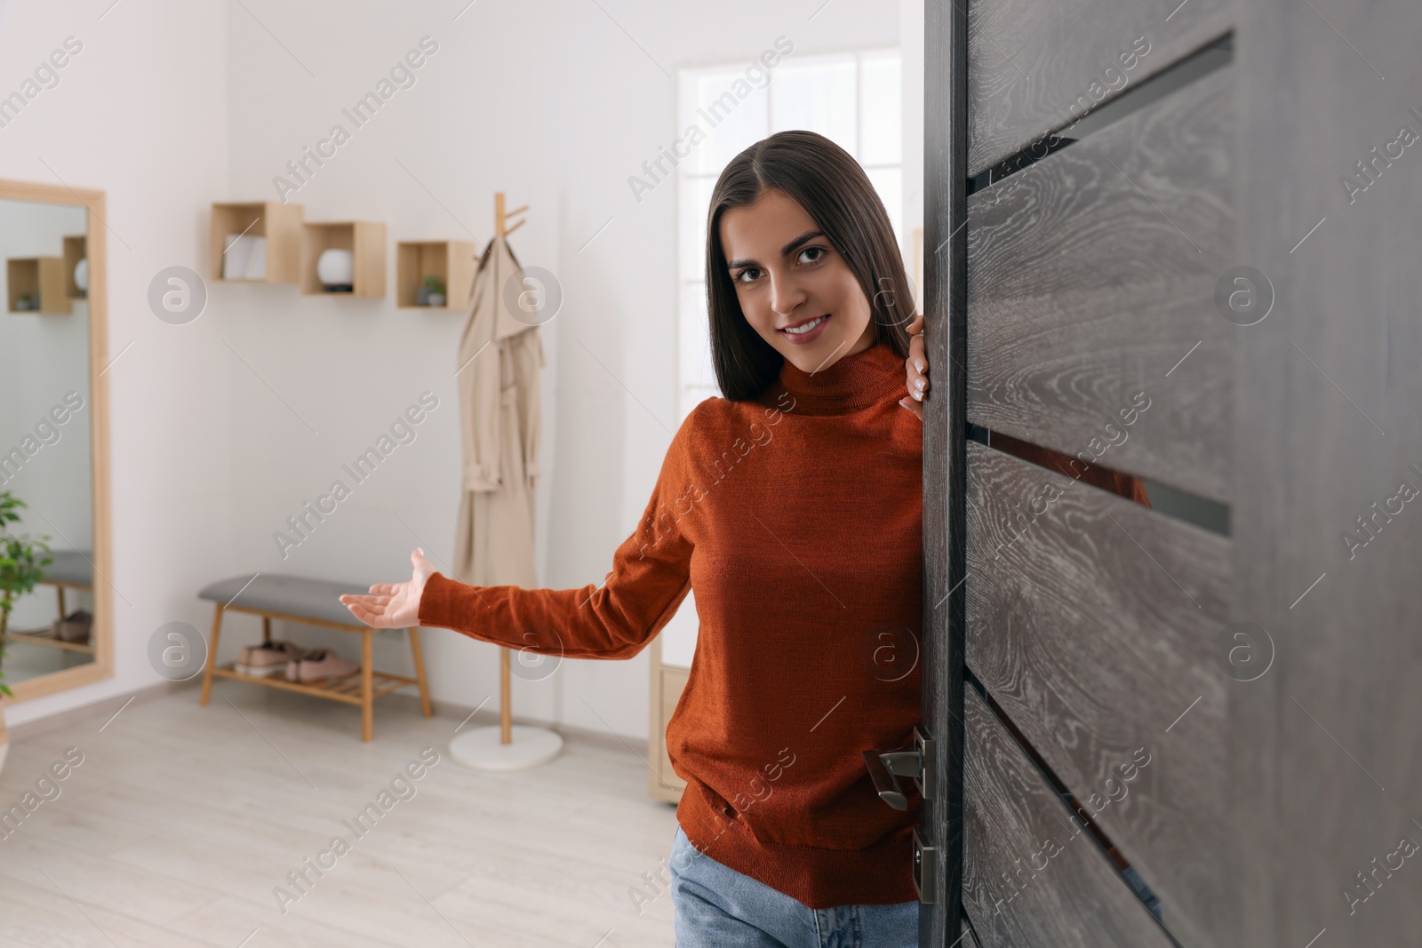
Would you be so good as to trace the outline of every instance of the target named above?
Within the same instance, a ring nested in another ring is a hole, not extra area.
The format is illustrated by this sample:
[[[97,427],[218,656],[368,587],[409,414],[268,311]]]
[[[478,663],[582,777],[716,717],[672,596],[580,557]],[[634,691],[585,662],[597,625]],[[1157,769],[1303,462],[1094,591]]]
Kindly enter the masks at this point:
[[[4,701],[112,674],[102,213],[102,192],[0,181]]]

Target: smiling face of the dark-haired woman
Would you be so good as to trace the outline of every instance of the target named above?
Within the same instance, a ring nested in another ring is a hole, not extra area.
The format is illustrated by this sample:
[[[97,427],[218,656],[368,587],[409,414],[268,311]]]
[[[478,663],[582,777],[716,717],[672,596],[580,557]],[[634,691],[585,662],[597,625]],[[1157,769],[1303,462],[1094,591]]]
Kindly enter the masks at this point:
[[[815,372],[873,345],[859,281],[785,192],[724,212],[721,250],[747,321],[796,368]]]

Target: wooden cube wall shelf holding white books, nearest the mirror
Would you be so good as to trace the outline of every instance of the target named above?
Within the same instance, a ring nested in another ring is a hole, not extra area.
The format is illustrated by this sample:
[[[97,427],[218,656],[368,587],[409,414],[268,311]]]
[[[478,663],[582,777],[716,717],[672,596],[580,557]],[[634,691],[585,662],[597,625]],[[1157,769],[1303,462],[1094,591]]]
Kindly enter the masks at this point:
[[[301,274],[301,205],[274,200],[212,205],[212,279],[296,283]]]

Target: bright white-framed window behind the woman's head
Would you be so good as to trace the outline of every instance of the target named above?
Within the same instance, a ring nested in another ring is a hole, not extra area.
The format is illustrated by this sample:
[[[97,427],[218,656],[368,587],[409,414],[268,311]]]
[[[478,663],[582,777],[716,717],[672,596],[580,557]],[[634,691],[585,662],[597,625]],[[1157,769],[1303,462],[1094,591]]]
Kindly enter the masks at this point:
[[[680,74],[677,128],[698,125],[705,139],[677,165],[678,421],[702,399],[721,394],[711,367],[707,324],[707,210],[721,169],[742,149],[788,128],[805,128],[835,141],[863,166],[884,202],[899,246],[906,246],[897,50],[813,57],[791,53],[769,71],[768,85],[728,109],[727,102],[735,97],[725,94],[737,80],[745,81],[742,63]],[[707,115],[717,119],[714,126]]]

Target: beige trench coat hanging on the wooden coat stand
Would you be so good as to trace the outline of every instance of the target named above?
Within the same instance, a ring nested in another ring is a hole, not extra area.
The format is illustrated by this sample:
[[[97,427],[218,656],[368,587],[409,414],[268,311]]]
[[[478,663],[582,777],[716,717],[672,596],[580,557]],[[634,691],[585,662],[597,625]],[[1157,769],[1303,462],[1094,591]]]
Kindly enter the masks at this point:
[[[479,262],[459,340],[464,483],[454,570],[471,586],[539,586],[533,519],[545,361],[538,327],[509,308],[505,287],[518,269],[508,242],[495,236]]]

